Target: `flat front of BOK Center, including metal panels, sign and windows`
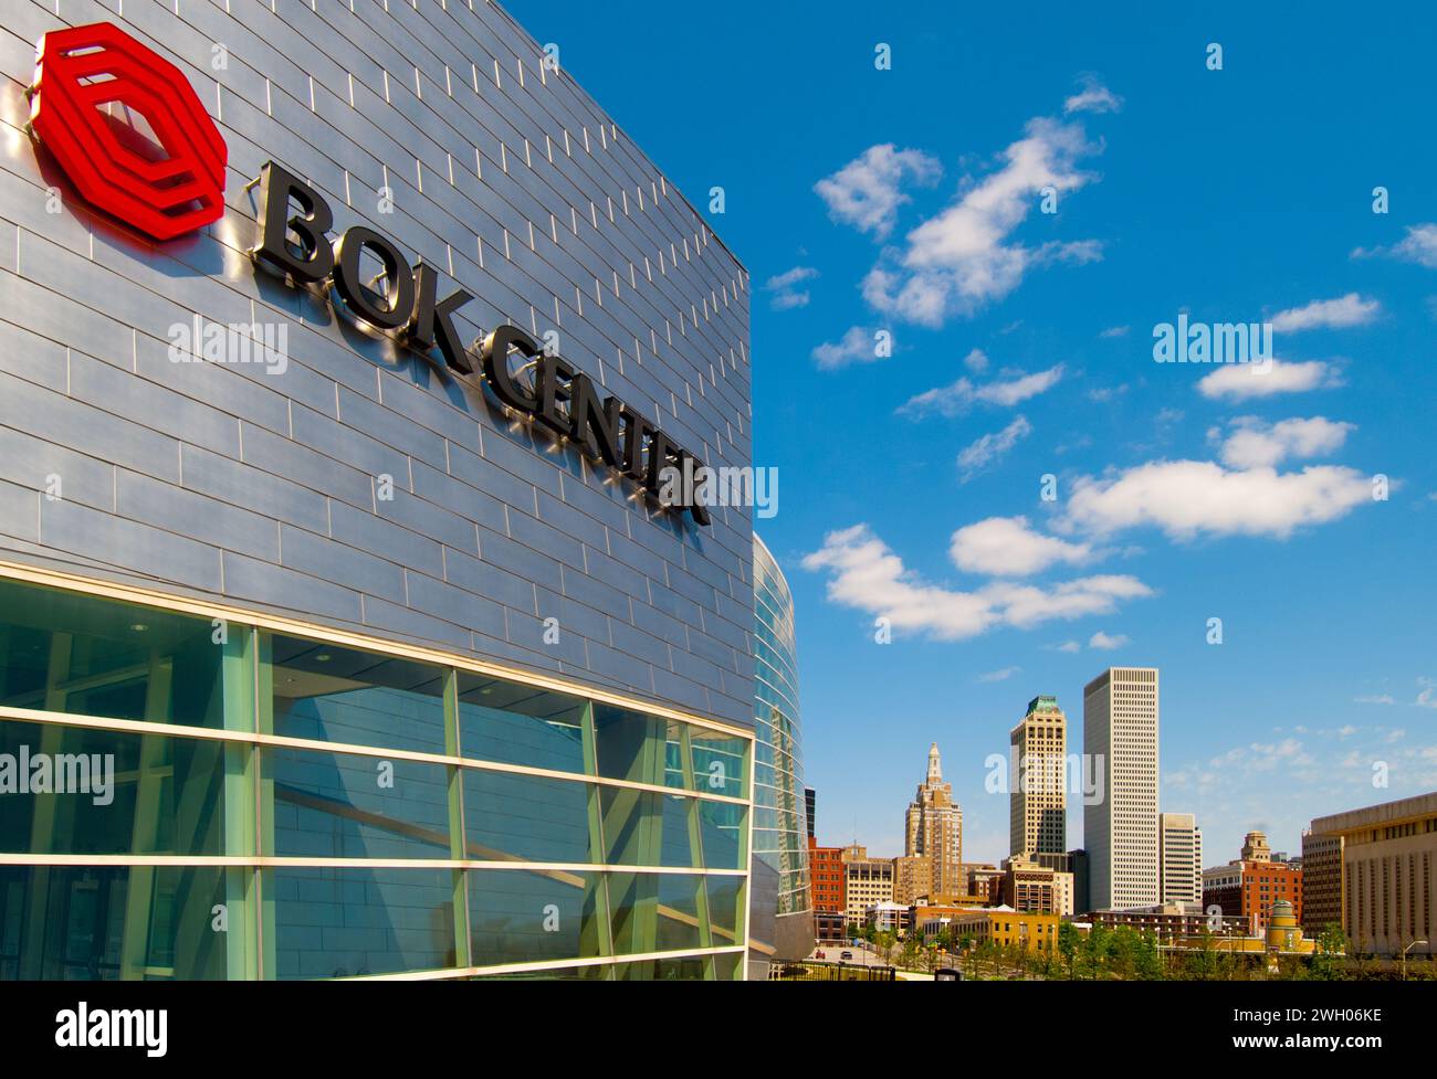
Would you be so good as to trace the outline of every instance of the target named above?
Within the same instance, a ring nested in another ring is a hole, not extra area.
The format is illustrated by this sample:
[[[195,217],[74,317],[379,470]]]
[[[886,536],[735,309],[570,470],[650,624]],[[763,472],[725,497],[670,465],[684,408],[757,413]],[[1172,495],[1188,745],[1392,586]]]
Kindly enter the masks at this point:
[[[0,977],[741,979],[747,274],[497,6],[276,7],[0,14]]]

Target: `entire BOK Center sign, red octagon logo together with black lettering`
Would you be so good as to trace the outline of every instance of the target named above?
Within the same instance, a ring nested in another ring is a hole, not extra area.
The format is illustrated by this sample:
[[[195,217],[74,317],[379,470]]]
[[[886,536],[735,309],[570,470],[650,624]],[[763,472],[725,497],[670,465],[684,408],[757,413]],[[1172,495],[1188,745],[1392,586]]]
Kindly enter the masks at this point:
[[[223,215],[228,149],[178,67],[112,23],[53,30],[40,39],[37,56],[29,88],[30,133],[88,202],[158,241]],[[128,145],[132,141],[121,138],[105,112],[111,105],[144,116],[158,152]],[[500,326],[466,347],[453,316],[473,298],[467,291],[437,298],[434,268],[422,261],[411,267],[391,240],[365,225],[331,241],[329,205],[273,161],[257,184],[250,250],[256,264],[299,287],[332,287],[356,321],[395,331],[421,354],[438,347],[450,370],[473,385],[489,383],[507,409],[573,439],[591,461],[622,472],[665,508],[687,509],[696,524],[710,524],[704,502],[713,494],[713,469],[657,422],[601,395],[588,374],[517,326]],[[382,265],[371,283],[361,271],[365,253]],[[384,281],[382,293],[371,287],[376,281]],[[514,353],[523,367],[533,367],[532,379],[512,369]]]

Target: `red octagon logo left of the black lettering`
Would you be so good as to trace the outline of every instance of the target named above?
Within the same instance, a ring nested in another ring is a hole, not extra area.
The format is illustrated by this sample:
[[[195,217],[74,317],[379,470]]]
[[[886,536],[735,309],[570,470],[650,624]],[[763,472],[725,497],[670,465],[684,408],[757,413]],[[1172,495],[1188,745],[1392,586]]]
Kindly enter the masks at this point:
[[[105,110],[112,103],[148,122],[158,152]],[[112,23],[40,39],[30,131],[86,201],[155,240],[224,214],[228,148],[214,121],[178,67]]]

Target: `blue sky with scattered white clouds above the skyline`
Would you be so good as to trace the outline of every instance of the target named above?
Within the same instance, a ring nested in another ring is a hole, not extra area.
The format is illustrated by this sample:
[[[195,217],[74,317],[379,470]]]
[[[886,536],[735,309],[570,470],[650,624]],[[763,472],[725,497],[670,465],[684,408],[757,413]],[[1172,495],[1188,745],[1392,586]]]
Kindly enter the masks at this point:
[[[1163,672],[1207,864],[1437,789],[1437,14],[1203,7],[509,3],[724,188],[826,842],[901,854],[937,740],[966,857],[1006,855],[984,758],[1038,693],[1081,748],[1109,664]],[[1155,363],[1180,313],[1272,323],[1275,366]]]

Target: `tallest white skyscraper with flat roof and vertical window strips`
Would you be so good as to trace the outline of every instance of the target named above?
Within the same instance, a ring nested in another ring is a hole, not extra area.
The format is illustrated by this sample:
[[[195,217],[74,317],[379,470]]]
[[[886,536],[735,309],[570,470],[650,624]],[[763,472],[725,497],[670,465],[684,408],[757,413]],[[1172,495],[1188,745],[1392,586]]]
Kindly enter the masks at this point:
[[[1158,903],[1158,672],[1109,667],[1083,687],[1085,773],[1101,791],[1083,798],[1088,904],[1094,910]]]

